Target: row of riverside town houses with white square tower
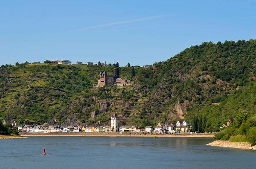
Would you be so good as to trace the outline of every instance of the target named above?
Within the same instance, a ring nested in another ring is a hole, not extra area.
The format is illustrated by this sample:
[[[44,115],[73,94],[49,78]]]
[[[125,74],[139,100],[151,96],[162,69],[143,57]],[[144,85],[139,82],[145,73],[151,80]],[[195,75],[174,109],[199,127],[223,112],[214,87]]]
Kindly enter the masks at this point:
[[[3,124],[6,124],[4,120]],[[85,132],[85,133],[97,133],[97,132],[132,132],[132,133],[157,133],[157,134],[178,134],[182,133],[193,133],[191,129],[191,125],[188,121],[178,120],[177,123],[161,123],[159,122],[157,126],[146,126],[145,129],[141,129],[138,126],[119,126],[119,119],[115,114],[111,115],[111,125],[110,126],[102,126],[100,122],[97,123],[85,123],[84,126],[60,126],[60,125],[50,125],[49,123],[44,123],[42,125],[37,124],[29,124],[29,125],[19,125],[16,126],[13,123],[15,129],[18,132],[41,132],[41,133],[49,133],[49,132]]]

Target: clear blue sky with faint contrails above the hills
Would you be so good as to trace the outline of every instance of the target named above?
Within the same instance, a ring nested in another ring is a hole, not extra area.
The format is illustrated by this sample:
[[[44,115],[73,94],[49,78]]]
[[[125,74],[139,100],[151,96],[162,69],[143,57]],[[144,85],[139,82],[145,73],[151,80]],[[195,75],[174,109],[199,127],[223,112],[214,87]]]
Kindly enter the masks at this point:
[[[254,0],[20,0],[0,5],[0,65],[166,61],[202,42],[255,39]]]

